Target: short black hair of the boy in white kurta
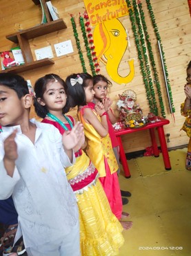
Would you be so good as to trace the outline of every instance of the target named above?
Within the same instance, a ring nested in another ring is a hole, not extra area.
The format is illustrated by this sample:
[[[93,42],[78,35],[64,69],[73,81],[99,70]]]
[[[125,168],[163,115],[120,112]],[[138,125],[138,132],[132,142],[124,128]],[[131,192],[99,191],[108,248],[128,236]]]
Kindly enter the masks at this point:
[[[0,85],[7,86],[14,90],[18,98],[21,99],[24,95],[29,94],[28,85],[21,75],[13,73],[0,73]]]

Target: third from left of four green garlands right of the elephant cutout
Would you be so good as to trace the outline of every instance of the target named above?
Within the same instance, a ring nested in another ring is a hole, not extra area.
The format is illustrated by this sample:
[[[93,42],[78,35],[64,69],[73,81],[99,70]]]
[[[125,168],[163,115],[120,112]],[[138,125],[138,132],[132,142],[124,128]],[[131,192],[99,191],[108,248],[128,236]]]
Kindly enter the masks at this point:
[[[152,52],[152,46],[151,46],[151,43],[150,43],[150,40],[149,40],[150,36],[148,34],[147,25],[145,24],[145,15],[144,15],[144,12],[143,12],[143,9],[142,9],[142,3],[141,2],[138,3],[138,7],[139,7],[140,16],[141,16],[141,22],[142,22],[142,25],[143,25],[143,31],[144,31],[144,34],[145,34],[145,41],[146,41],[147,48],[148,48],[148,54],[149,54],[150,62],[151,62],[151,66],[152,66],[152,71],[154,73],[154,82],[157,86],[157,94],[158,94],[158,97],[159,97],[159,104],[160,104],[160,107],[161,107],[161,116],[163,116],[163,118],[165,118],[165,109],[164,109],[164,104],[163,104],[163,98],[162,98],[162,95],[161,95],[161,86],[160,86],[160,82],[159,82],[159,76],[157,74],[157,68],[156,68],[156,64],[154,62],[154,55],[153,55],[153,52]]]

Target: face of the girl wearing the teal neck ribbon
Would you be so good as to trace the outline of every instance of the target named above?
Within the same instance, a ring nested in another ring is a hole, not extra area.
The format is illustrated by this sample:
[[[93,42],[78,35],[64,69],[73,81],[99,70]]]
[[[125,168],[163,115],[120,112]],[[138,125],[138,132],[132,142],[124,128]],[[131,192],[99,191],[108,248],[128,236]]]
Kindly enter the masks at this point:
[[[46,91],[43,93],[41,104],[46,105],[49,111],[63,109],[66,105],[67,95],[63,85],[59,82],[50,82],[46,85]]]

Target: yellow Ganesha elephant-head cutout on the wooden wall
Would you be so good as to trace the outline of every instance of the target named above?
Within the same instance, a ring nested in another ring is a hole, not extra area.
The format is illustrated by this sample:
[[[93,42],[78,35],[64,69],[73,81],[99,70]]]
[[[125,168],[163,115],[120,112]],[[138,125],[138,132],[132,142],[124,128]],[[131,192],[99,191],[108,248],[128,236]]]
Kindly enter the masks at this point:
[[[134,77],[134,60],[128,60],[130,72],[121,77],[118,73],[119,64],[128,48],[125,28],[119,19],[110,19],[94,28],[94,46],[98,62],[105,64],[108,75],[118,84],[127,84]]]

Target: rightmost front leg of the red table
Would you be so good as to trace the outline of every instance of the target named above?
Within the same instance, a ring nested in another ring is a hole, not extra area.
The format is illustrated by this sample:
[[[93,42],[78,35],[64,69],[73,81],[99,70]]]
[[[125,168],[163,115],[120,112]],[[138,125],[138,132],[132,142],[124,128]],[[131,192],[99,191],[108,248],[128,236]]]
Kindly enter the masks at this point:
[[[161,143],[161,152],[163,154],[163,161],[165,165],[165,170],[171,170],[171,165],[170,165],[170,158],[168,155],[168,148],[165,142],[165,134],[164,134],[164,129],[163,126],[157,128],[158,134],[159,134],[159,140]]]

